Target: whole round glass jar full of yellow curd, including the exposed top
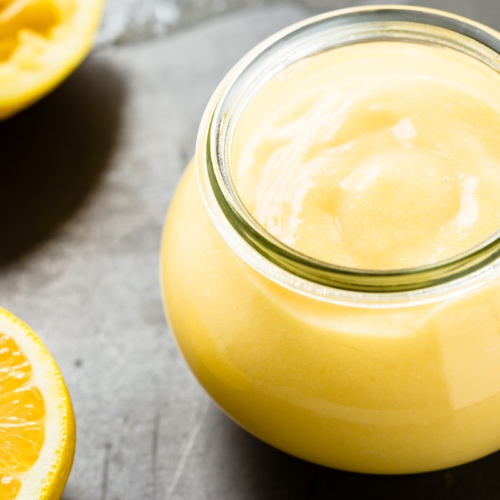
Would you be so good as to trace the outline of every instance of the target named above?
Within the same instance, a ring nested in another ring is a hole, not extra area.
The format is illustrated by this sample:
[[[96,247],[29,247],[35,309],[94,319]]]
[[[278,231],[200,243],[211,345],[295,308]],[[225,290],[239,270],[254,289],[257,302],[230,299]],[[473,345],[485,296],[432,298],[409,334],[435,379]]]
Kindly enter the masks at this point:
[[[208,104],[161,249],[169,324],[268,444],[403,474],[500,449],[500,35],[334,11]]]

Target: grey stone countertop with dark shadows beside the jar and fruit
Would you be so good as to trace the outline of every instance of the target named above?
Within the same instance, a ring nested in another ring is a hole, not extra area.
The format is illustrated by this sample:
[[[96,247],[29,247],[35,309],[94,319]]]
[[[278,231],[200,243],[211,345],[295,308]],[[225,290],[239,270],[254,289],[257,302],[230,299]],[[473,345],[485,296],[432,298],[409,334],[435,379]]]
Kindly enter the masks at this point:
[[[293,500],[338,491],[498,498],[498,453],[445,471],[379,477],[270,448],[209,401],[163,315],[162,225],[210,94],[267,35],[349,2],[228,1],[229,12],[209,6],[201,20],[182,14],[182,2],[171,2],[180,10],[168,18],[169,2],[158,0],[169,28],[141,24],[150,19],[145,9],[135,18],[142,28],[129,29],[134,1],[119,1],[109,2],[91,57],[43,101],[0,123],[0,304],[38,332],[72,394],[78,447],[63,499]],[[419,3],[500,28],[496,0]]]

